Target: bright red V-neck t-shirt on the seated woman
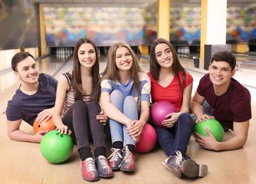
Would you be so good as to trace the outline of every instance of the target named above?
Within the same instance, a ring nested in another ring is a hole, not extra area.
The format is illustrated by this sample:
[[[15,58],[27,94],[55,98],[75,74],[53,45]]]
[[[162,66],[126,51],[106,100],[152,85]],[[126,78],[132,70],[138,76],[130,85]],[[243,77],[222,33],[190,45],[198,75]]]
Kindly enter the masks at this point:
[[[181,86],[183,84],[183,72],[180,71],[178,73],[181,81]],[[181,87],[178,83],[178,77],[175,75],[173,80],[170,82],[170,84],[167,87],[162,87],[160,84],[158,84],[157,81],[155,81],[148,72],[148,76],[151,79],[151,100],[154,104],[158,101],[169,101],[171,104],[173,104],[178,112],[181,110],[181,104],[182,104],[182,97],[183,93],[181,93]],[[185,73],[185,87],[188,87],[189,84],[193,81],[193,77],[191,74],[188,74],[188,72]]]

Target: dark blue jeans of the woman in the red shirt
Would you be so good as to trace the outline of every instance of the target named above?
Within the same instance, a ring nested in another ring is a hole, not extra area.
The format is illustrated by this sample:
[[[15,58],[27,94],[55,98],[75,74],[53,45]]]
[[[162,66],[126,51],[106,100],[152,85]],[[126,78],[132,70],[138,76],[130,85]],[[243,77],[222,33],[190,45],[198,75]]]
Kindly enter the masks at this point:
[[[175,126],[168,129],[158,126],[154,127],[158,136],[158,143],[167,156],[180,151],[185,159],[190,159],[186,152],[194,126],[195,124],[192,122],[191,116],[188,113],[182,113],[178,117]]]

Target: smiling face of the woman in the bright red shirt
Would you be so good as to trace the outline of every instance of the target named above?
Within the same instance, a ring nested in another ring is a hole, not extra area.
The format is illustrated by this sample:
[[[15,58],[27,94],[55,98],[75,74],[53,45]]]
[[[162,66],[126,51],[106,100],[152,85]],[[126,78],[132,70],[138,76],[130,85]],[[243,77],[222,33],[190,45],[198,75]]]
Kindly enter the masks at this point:
[[[165,43],[155,47],[155,58],[161,67],[171,67],[174,62],[171,48]]]

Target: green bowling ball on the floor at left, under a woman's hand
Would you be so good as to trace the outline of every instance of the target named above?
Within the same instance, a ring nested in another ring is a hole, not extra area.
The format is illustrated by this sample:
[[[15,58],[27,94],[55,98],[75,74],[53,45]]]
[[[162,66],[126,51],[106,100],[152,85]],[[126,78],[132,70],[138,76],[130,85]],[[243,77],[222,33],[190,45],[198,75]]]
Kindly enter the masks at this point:
[[[52,130],[43,136],[40,143],[42,156],[50,163],[63,163],[71,156],[74,143],[68,134]]]

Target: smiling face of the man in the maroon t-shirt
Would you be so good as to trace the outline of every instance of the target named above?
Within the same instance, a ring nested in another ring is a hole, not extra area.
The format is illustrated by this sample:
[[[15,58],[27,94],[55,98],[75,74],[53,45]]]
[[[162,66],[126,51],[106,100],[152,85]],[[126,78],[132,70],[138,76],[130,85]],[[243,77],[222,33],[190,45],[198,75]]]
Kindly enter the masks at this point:
[[[235,73],[234,70],[231,71],[231,66],[226,61],[213,61],[208,70],[211,83],[215,87],[228,87]]]

